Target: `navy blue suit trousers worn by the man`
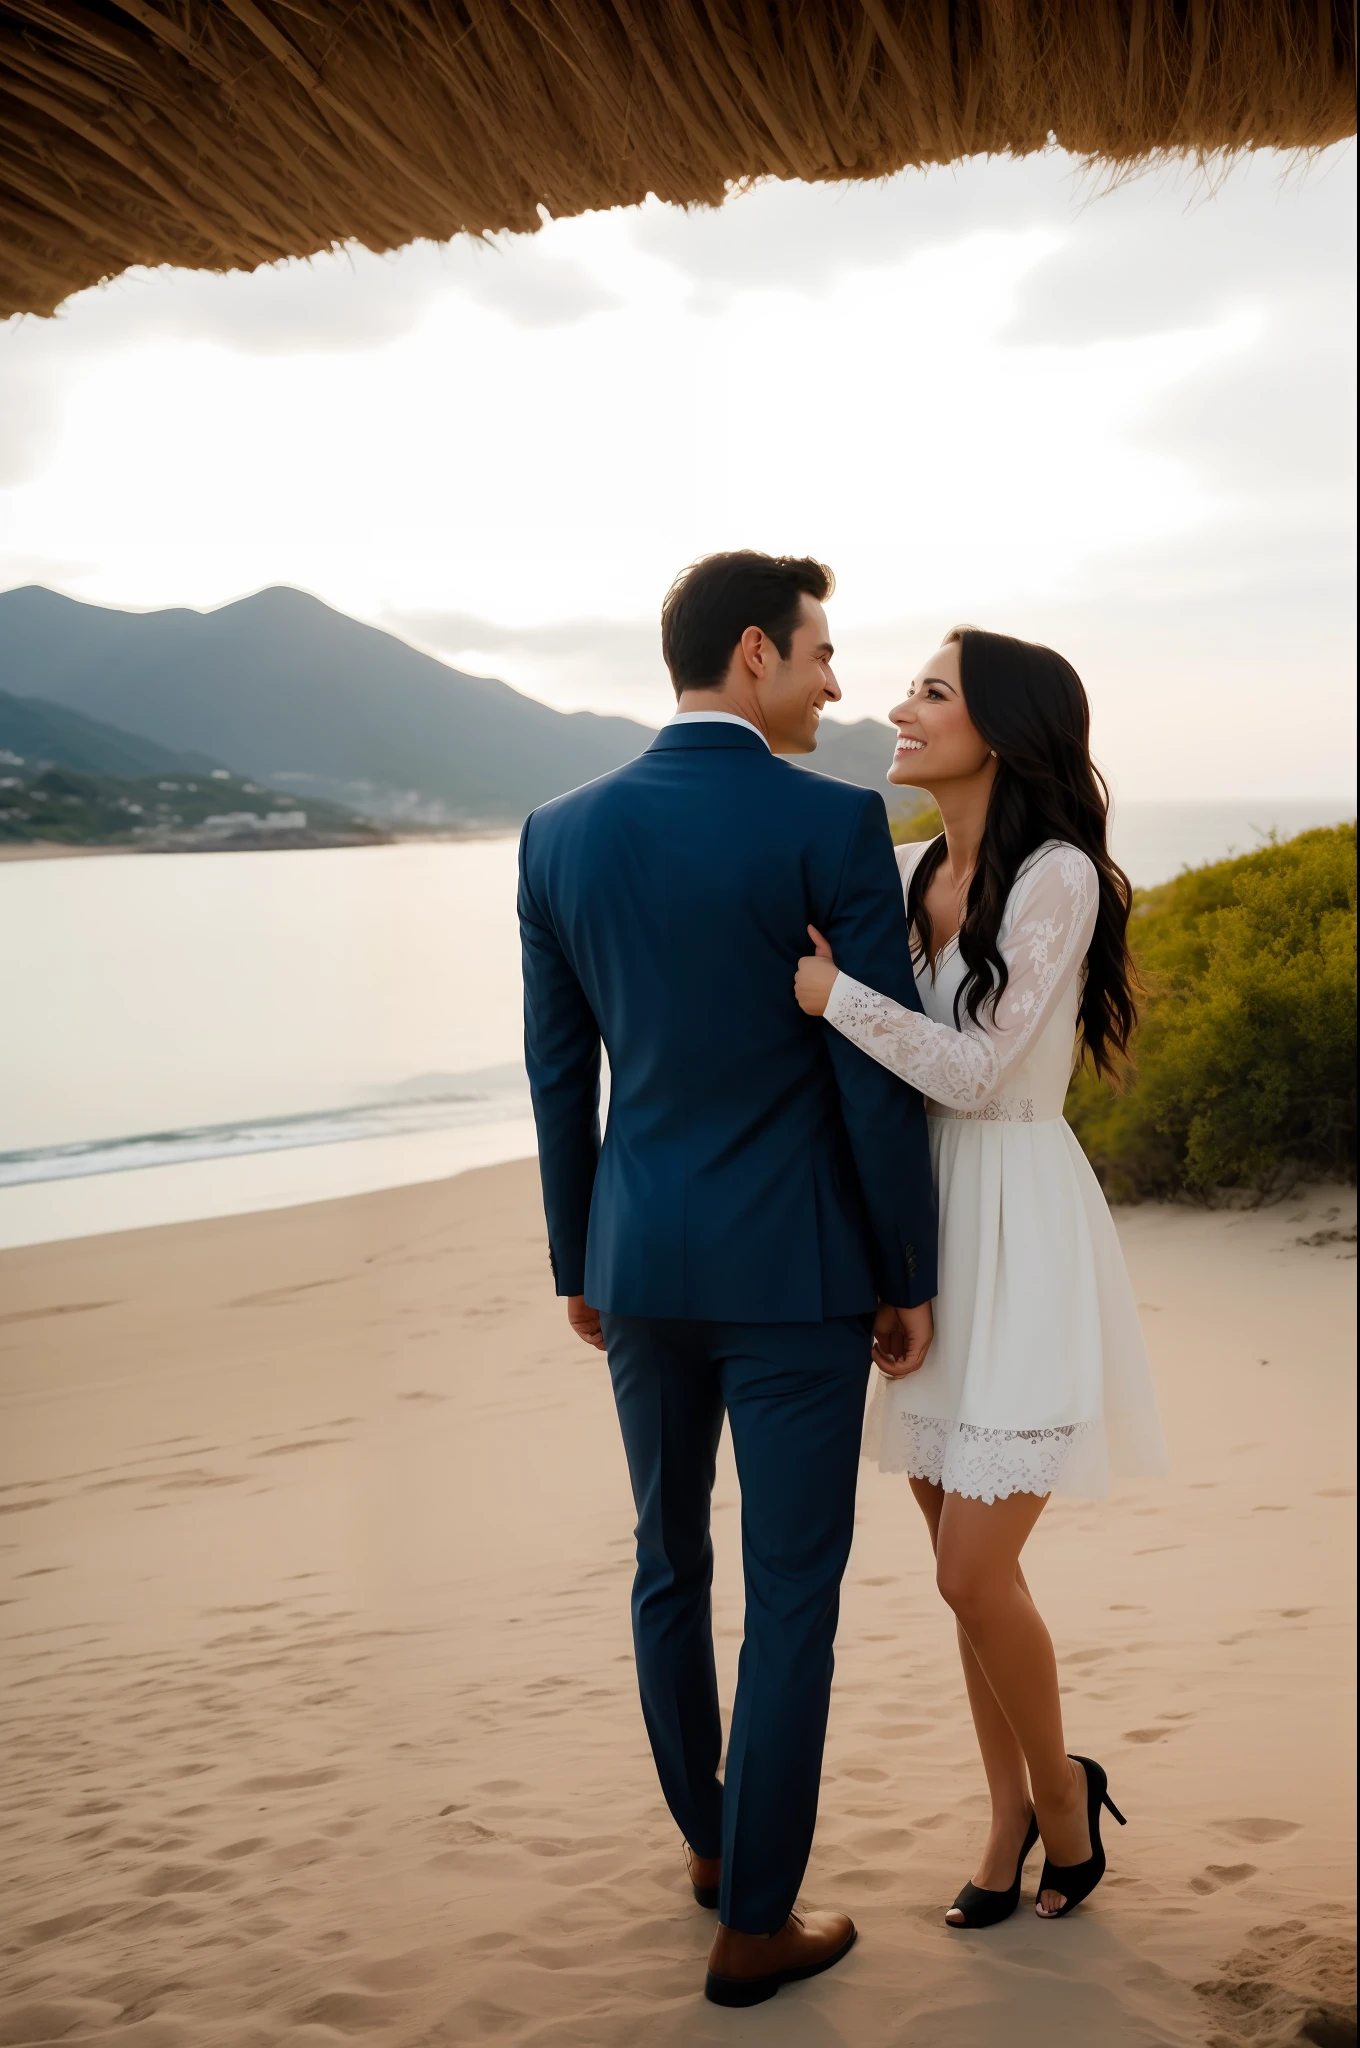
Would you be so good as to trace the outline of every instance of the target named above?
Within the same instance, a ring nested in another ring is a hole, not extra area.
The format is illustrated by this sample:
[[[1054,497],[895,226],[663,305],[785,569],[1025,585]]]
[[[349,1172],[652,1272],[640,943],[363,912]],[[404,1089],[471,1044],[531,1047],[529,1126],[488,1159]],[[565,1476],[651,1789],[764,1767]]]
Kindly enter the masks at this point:
[[[723,1925],[776,1933],[817,1823],[873,1317],[600,1323],[637,1503],[633,1642],[666,1804],[698,1855],[723,1858]],[[719,1780],[709,1507],[723,1415],[746,1640]]]

